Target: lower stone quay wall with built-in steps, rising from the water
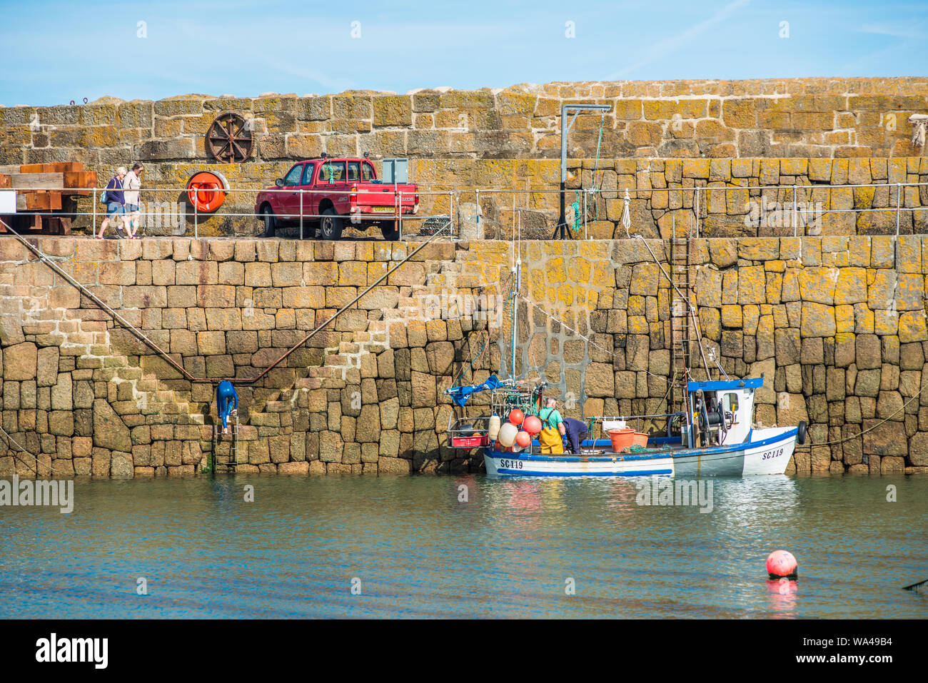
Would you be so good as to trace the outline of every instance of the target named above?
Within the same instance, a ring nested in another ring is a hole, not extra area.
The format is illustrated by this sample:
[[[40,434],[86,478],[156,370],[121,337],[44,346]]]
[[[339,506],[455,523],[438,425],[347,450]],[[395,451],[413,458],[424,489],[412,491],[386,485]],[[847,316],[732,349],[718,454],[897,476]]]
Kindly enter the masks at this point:
[[[480,467],[444,445],[445,389],[462,372],[509,375],[509,243],[426,245],[302,345],[417,245],[36,244],[190,377],[0,239],[0,426],[30,454],[0,440],[0,474],[180,475],[230,469],[233,457],[241,472]],[[567,415],[665,409],[673,297],[648,247],[667,268],[657,239],[519,248],[515,370],[548,380]],[[731,376],[764,373],[757,422],[809,422],[790,471],[928,469],[928,238],[703,238],[691,262],[707,351]],[[461,302],[481,302],[481,315],[460,315]],[[238,378],[235,453],[213,439],[225,377]]]

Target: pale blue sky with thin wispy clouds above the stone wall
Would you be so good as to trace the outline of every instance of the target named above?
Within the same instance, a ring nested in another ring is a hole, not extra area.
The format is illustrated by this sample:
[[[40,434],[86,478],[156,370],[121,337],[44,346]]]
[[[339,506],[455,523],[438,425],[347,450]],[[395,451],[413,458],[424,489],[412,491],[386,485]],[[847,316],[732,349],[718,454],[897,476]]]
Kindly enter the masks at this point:
[[[928,3],[896,0],[0,0],[0,11],[6,106],[928,71]]]

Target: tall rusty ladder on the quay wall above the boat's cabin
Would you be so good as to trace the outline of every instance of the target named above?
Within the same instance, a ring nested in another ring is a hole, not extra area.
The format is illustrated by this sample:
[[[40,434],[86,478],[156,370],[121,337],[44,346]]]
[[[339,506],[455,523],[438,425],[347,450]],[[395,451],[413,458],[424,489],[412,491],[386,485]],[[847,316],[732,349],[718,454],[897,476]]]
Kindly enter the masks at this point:
[[[692,354],[692,320],[690,318],[690,238],[670,238],[670,374],[672,378],[670,411],[687,411],[687,381],[690,380]],[[680,297],[677,291],[686,296]]]

